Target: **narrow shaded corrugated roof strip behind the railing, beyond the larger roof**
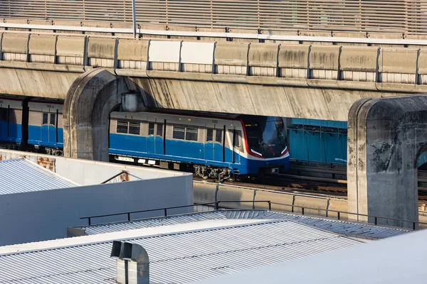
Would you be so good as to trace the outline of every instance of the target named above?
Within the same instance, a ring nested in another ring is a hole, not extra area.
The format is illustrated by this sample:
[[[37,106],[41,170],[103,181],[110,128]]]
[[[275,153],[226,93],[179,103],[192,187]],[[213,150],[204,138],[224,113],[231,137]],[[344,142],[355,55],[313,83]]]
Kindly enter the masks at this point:
[[[344,236],[355,236],[363,239],[384,239],[389,236],[397,236],[409,232],[405,229],[389,228],[384,226],[373,226],[353,222],[343,222],[332,219],[322,219],[316,217],[300,216],[295,214],[285,214],[269,212],[263,210],[232,210],[216,212],[199,212],[184,214],[173,217],[163,217],[155,219],[142,219],[132,222],[117,222],[110,224],[99,224],[93,226],[79,226],[85,229],[85,234],[102,234],[112,231],[123,231],[139,229],[150,226],[167,226],[171,224],[183,224],[207,219],[275,219],[291,220],[300,224],[314,226],[325,231],[332,231]]]

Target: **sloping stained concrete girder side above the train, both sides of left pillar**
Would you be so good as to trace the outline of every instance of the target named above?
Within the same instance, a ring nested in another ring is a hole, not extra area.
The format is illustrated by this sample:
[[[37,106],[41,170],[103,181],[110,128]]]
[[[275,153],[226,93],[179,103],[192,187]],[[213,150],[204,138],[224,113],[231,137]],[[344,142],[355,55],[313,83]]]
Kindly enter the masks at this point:
[[[78,72],[0,68],[0,93],[66,99],[71,84],[80,75]],[[358,99],[407,94],[277,84],[120,78],[126,89],[141,94],[145,107],[334,121],[347,121],[348,111]]]

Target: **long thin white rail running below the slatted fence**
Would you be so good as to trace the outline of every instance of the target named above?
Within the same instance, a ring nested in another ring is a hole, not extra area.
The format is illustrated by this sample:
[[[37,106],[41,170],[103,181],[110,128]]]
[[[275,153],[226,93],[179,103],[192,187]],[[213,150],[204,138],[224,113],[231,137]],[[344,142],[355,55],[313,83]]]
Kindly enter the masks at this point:
[[[80,31],[93,33],[122,33],[132,34],[132,28],[95,28],[82,26],[54,26],[54,25],[31,25],[23,23],[0,23],[0,28],[21,28],[28,30],[44,31]],[[0,31],[1,32],[1,31]],[[7,31],[6,31],[7,32]],[[18,32],[18,31],[11,31]],[[23,31],[19,31],[23,32]],[[206,37],[206,38],[241,38],[255,40],[285,40],[297,42],[319,42],[319,43],[362,43],[362,44],[380,44],[380,45],[427,45],[427,40],[416,39],[386,39],[386,38],[346,38],[346,37],[327,37],[327,36],[308,36],[308,35],[267,35],[256,33],[218,33],[206,31],[162,31],[138,28],[139,35],[169,35],[169,36],[187,36],[187,37]],[[61,35],[71,35],[62,33]],[[75,34],[73,34],[75,35]],[[90,35],[96,37],[96,35]],[[119,36],[116,36],[119,37]]]

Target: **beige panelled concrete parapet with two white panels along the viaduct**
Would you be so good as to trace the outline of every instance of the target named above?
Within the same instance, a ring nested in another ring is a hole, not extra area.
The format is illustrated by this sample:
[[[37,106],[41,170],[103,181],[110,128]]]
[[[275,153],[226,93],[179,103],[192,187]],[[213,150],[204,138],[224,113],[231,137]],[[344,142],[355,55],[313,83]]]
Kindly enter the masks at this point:
[[[402,92],[422,92],[417,85],[426,84],[427,75],[423,48],[133,40],[17,31],[0,37],[0,67],[33,70],[85,72],[105,67],[134,77],[176,77],[179,72],[181,79],[190,80],[302,87],[328,80],[330,87],[377,90],[402,90],[395,85],[399,83],[406,86]]]

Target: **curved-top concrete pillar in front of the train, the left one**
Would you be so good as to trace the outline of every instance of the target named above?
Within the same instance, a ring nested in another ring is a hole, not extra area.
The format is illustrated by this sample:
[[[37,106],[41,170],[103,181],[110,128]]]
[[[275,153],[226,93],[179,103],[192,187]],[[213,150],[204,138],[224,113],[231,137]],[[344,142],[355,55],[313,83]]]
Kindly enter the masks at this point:
[[[93,69],[73,82],[63,109],[66,157],[108,160],[109,115],[127,92],[123,81],[107,70]]]

